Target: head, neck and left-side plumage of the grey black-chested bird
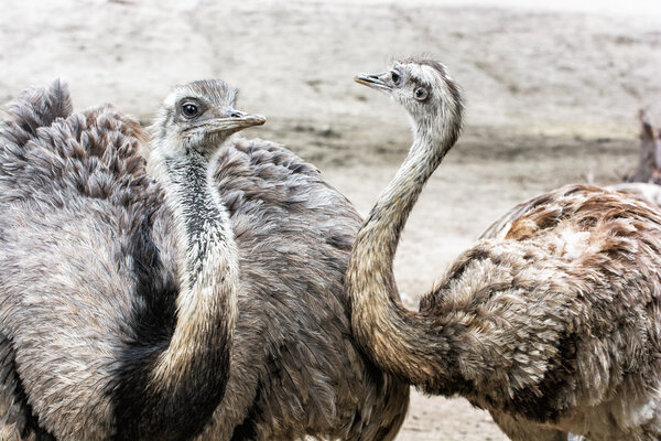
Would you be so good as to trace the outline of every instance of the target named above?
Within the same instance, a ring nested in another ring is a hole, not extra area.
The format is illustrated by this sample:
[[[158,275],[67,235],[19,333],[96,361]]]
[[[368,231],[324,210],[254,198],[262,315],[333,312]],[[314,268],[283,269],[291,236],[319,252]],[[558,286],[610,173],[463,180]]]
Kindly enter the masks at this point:
[[[13,396],[2,412],[18,435],[181,440],[208,421],[229,376],[239,284],[209,162],[231,133],[264,122],[235,97],[209,80],[165,99],[153,127],[162,186],[138,154],[140,126],[113,108],[69,115],[59,83],[9,108],[0,342],[2,397]]]

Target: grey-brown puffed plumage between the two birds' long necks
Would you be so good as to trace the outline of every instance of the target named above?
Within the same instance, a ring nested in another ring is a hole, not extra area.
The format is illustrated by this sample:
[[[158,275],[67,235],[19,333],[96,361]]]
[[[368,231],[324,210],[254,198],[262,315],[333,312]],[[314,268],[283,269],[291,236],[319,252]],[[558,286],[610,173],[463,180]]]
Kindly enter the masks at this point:
[[[409,386],[358,349],[343,287],[358,214],[314,166],[268,141],[229,142],[214,179],[239,250],[240,313],[226,394],[199,439],[393,439]],[[145,235],[169,256],[162,278],[176,268],[159,197]]]

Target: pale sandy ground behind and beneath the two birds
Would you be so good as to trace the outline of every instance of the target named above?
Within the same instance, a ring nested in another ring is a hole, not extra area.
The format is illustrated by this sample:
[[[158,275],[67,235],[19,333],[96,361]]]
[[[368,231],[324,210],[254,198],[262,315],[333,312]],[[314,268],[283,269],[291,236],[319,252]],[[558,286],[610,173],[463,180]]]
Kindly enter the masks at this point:
[[[661,3],[1,0],[0,101],[55,77],[84,108],[148,121],[172,84],[221,77],[259,136],[316,163],[366,214],[409,143],[407,118],[351,82],[393,57],[442,60],[465,133],[400,246],[407,303],[512,205],[570,182],[614,183],[637,160],[636,112],[661,119]],[[399,440],[503,440],[465,400],[414,394]]]

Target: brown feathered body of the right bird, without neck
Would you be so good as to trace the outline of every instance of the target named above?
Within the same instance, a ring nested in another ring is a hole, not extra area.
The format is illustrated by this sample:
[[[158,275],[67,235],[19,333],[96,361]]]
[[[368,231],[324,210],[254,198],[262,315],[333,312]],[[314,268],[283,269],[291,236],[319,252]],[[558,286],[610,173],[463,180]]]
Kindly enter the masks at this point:
[[[476,354],[489,361],[472,379],[480,392],[466,394],[475,404],[597,439],[638,423],[661,434],[659,268],[655,207],[570,185],[498,220],[421,311],[474,318]]]

